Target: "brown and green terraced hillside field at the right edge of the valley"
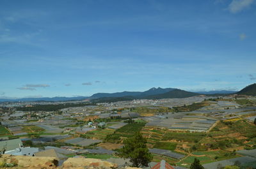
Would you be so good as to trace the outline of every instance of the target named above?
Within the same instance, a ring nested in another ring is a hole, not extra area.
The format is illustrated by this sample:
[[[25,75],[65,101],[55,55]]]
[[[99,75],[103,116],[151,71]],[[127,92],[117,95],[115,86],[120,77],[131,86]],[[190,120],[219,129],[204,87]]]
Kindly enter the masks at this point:
[[[256,144],[256,126],[244,120],[236,122],[219,122],[207,137],[193,147],[193,151],[208,149],[239,150],[250,149]]]

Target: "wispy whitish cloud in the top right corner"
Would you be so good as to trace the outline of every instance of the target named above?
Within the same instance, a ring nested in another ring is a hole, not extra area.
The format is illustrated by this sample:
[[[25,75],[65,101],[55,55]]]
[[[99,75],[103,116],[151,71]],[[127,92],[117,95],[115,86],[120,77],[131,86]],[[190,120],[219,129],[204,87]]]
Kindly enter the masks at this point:
[[[251,6],[253,4],[253,1],[254,0],[232,0],[232,2],[228,5],[228,10],[231,13],[243,11]]]

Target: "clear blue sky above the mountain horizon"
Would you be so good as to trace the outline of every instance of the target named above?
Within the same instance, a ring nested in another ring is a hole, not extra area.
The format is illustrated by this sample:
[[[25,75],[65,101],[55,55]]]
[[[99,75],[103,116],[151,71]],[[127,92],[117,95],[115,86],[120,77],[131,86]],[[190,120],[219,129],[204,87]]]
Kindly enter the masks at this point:
[[[256,80],[254,0],[0,2],[0,98]]]

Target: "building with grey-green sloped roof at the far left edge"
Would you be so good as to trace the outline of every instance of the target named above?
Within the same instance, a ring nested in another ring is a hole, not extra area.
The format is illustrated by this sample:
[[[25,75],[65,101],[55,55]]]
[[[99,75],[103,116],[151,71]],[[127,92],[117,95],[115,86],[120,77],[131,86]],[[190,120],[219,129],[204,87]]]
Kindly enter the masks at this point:
[[[18,149],[22,147],[23,144],[20,140],[20,138],[13,139],[13,140],[4,140],[0,142],[0,151],[12,151],[14,149]]]

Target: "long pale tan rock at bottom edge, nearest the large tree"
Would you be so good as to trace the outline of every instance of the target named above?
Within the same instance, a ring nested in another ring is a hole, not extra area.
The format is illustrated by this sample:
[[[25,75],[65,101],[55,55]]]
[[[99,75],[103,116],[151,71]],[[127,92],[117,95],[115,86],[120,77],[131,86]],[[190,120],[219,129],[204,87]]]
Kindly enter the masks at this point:
[[[102,161],[100,159],[93,158],[68,158],[64,161],[63,168],[104,168],[104,169],[112,169],[117,168],[117,165],[114,163],[109,163],[108,161]]]

